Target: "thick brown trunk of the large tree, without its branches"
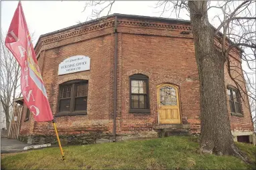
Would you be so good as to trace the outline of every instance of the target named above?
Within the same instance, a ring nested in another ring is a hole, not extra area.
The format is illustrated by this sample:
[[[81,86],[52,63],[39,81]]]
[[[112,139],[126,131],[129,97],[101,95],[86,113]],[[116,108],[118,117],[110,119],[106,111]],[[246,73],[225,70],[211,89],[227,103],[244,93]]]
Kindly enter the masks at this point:
[[[243,158],[231,135],[225,57],[214,45],[214,29],[208,22],[206,4],[207,1],[188,1],[200,79],[200,152]]]

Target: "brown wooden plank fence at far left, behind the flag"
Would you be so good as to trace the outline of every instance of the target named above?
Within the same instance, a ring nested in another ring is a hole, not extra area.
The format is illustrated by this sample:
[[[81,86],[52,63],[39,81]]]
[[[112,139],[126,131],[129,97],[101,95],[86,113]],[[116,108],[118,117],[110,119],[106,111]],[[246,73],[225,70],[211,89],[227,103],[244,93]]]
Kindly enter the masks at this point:
[[[8,139],[17,139],[19,137],[19,128],[21,126],[21,115],[23,105],[14,103],[13,116],[9,127]]]

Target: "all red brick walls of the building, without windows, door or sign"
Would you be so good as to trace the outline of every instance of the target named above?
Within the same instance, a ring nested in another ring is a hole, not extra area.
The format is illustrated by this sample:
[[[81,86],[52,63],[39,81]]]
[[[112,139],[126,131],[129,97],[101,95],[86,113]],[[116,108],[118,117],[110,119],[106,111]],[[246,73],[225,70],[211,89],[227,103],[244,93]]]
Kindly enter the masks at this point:
[[[106,22],[107,26],[103,26],[104,22],[99,27],[94,23],[96,26],[90,25],[92,29],[71,29],[42,37],[36,47],[54,115],[58,111],[60,83],[88,80],[87,115],[56,117],[60,134],[113,131],[114,20]],[[180,34],[190,31],[190,26],[138,19],[119,19],[118,23],[117,134],[150,131],[158,124],[156,87],[162,83],[179,87],[182,123],[190,123],[192,133],[200,132],[199,82],[192,33]],[[58,76],[58,64],[74,55],[90,57],[90,71]],[[150,113],[129,113],[129,76],[135,73],[149,77]],[[233,85],[227,75],[225,79],[226,85]],[[243,113],[244,117],[231,116],[233,130],[253,129],[244,103]],[[30,129],[29,133],[26,129]],[[54,131],[52,123],[36,123],[31,118],[22,123],[20,133],[40,135]]]

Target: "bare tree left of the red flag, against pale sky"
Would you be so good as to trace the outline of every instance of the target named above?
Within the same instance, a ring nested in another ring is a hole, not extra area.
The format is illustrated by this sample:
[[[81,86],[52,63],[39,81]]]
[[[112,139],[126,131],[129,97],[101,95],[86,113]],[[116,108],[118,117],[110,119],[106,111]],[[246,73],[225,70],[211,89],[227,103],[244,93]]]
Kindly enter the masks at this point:
[[[20,76],[21,68],[17,63],[15,57],[5,47],[5,40],[1,34],[1,71],[0,71],[0,94],[1,105],[5,113],[6,126],[9,127],[11,107],[13,106],[13,99],[21,96],[20,91]]]

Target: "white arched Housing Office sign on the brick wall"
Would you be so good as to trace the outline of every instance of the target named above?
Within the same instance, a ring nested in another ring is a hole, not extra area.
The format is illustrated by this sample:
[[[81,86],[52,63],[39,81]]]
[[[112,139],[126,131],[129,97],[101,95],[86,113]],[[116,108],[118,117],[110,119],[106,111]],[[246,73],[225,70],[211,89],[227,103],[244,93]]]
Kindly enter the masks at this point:
[[[58,75],[66,75],[68,73],[76,73],[85,70],[90,70],[90,57],[76,55],[64,59],[64,61],[59,64]]]

